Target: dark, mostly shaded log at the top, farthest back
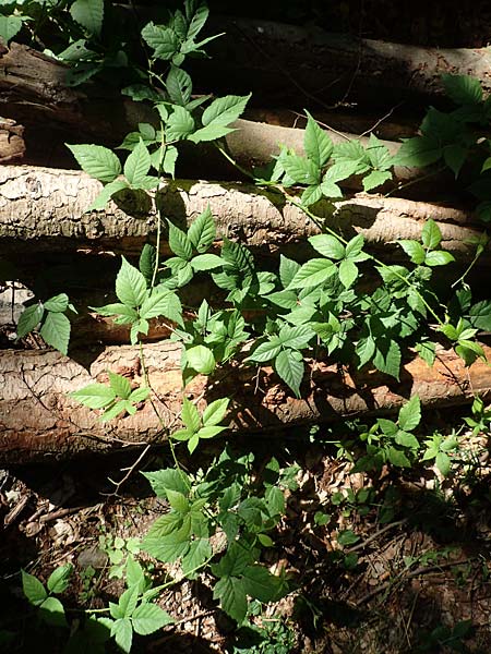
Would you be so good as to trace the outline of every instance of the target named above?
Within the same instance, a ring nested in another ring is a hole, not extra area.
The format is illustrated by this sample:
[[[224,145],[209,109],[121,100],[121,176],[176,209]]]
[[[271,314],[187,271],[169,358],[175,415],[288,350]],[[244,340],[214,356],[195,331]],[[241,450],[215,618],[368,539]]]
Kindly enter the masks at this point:
[[[249,93],[263,106],[302,109],[306,104],[434,104],[444,96],[442,73],[470,74],[491,92],[489,48],[424,48],[262,20],[211,17],[211,61],[191,72],[203,88]]]

